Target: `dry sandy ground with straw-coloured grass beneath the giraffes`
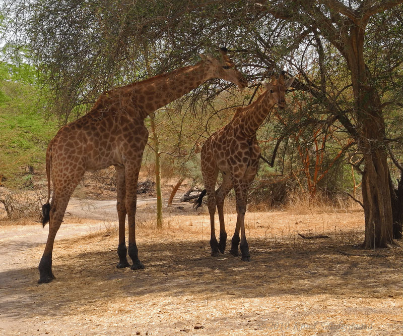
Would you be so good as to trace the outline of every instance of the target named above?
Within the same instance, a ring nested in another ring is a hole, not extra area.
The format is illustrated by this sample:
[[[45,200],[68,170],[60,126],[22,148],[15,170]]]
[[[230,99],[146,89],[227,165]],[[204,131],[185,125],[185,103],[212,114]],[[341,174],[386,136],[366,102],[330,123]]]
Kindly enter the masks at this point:
[[[164,207],[158,231],[154,205],[143,204],[136,236],[146,268],[138,271],[115,267],[116,219],[91,211],[66,215],[50,284],[37,284],[47,227],[0,223],[0,334],[403,332],[403,248],[355,248],[361,211],[247,212],[247,263],[228,253],[236,214],[225,215],[227,250],[213,258],[206,206]]]

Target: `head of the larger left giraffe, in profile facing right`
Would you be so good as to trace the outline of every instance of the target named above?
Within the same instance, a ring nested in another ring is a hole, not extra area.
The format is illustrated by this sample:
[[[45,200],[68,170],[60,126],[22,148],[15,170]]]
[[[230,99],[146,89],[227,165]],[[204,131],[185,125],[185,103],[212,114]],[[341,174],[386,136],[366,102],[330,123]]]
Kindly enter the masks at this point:
[[[200,54],[200,58],[205,62],[205,72],[209,78],[221,78],[232,82],[240,89],[248,86],[248,81],[242,73],[235,69],[234,62],[228,57],[227,49],[221,48],[221,60],[217,60],[211,55]]]

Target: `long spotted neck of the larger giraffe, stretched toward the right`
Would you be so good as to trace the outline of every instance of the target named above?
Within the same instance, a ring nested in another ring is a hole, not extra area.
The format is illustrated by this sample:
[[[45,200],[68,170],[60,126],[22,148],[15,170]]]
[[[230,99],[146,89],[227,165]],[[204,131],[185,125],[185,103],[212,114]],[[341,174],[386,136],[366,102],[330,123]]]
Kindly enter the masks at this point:
[[[133,102],[146,118],[158,108],[183,96],[211,78],[212,76],[205,71],[205,63],[200,62],[194,66],[129,84],[122,90],[131,94]]]

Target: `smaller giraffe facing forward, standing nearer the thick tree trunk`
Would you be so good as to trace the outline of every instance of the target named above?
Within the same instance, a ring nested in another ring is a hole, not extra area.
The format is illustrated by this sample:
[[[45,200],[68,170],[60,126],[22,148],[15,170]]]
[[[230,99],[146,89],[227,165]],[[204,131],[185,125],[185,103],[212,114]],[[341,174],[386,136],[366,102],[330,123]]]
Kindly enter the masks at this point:
[[[227,233],[224,224],[224,199],[234,188],[236,196],[237,221],[235,233],[231,241],[230,253],[238,255],[238,244],[242,260],[249,261],[249,246],[245,236],[246,197],[249,186],[255,178],[260,157],[260,148],[256,140],[256,132],[264,122],[275,104],[286,107],[285,92],[294,78],[284,81],[283,74],[279,79],[273,77],[271,83],[260,82],[266,91],[250,105],[237,108],[233,119],[215,132],[201,148],[201,173],[206,186],[196,200],[196,208],[207,191],[207,204],[211,225],[211,255],[217,257],[219,251],[224,253]],[[215,191],[218,173],[221,172],[223,182]],[[217,242],[214,228],[214,215],[218,209],[220,221],[220,243]],[[241,230],[241,239],[239,239]]]

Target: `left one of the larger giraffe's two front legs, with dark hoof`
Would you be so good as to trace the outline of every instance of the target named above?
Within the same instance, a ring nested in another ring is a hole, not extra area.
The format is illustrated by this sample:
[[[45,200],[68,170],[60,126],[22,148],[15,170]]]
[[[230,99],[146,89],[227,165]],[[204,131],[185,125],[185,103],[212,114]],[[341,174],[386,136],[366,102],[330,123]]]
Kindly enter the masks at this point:
[[[116,209],[119,219],[119,245],[117,246],[117,255],[119,257],[119,263],[117,268],[124,268],[130,266],[127,261],[127,248],[126,240],[124,236],[124,226],[126,222],[126,184],[125,173],[123,166],[115,166],[116,170],[116,189],[117,189],[117,201]]]

